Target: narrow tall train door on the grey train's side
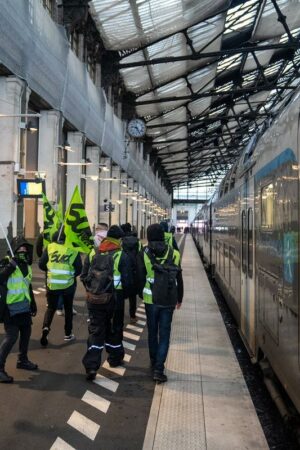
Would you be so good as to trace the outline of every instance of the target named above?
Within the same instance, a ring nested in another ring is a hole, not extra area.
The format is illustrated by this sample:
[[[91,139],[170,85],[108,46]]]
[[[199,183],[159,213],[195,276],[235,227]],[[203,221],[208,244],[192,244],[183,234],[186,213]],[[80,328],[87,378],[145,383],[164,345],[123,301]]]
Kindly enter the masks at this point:
[[[246,179],[241,190],[241,331],[255,354],[254,297],[254,182]]]

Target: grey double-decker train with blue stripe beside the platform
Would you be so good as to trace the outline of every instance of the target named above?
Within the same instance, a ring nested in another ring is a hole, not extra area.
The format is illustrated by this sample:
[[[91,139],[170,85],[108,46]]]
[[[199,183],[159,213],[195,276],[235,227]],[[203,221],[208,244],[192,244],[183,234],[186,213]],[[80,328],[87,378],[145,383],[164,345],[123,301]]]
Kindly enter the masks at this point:
[[[297,92],[197,216],[209,242],[199,227],[194,239],[250,355],[268,360],[300,412],[299,114]]]

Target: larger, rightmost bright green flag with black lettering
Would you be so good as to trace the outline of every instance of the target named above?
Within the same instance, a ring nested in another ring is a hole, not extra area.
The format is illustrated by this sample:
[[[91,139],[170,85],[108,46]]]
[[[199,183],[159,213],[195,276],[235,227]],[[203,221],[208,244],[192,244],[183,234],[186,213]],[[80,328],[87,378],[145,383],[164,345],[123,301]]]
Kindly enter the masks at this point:
[[[65,245],[82,253],[90,253],[93,248],[91,228],[83,201],[76,186],[64,221]]]

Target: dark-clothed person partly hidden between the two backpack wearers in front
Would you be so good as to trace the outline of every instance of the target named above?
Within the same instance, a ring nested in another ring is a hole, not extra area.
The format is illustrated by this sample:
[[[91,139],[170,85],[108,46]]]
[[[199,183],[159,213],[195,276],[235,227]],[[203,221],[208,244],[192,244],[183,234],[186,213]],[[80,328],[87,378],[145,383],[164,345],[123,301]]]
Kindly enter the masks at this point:
[[[136,233],[131,231],[130,223],[125,223],[121,225],[125,236],[122,239],[122,249],[128,255],[128,262],[130,263],[133,279],[130,280],[128,277],[124,277],[123,281],[123,291],[124,299],[129,299],[129,316],[131,323],[137,322],[136,313],[136,296],[138,294],[138,280],[137,280],[137,255],[141,250],[142,245]]]

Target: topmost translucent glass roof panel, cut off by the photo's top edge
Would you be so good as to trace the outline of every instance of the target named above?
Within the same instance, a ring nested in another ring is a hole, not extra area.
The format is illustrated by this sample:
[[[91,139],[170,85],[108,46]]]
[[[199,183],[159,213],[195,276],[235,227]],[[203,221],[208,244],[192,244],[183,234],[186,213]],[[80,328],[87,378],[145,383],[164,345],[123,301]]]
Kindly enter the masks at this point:
[[[89,2],[91,14],[109,50],[137,48],[152,43],[199,23],[228,6],[228,0]]]

